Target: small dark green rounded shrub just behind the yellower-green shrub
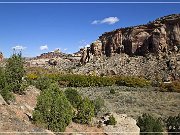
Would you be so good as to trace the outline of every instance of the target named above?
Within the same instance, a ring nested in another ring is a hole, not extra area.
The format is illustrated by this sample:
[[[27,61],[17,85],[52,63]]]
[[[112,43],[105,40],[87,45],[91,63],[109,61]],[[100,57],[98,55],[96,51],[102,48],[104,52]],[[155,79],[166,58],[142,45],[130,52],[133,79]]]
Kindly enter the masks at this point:
[[[66,98],[74,108],[77,108],[82,102],[82,97],[76,89],[68,88],[65,90]]]

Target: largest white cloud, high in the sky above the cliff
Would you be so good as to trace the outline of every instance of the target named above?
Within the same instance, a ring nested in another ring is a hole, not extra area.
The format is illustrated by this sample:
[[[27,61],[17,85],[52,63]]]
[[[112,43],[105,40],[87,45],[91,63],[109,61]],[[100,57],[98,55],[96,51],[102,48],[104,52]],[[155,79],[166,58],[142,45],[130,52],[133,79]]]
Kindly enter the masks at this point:
[[[119,21],[119,19],[117,17],[107,17],[104,18],[103,20],[94,20],[91,24],[115,24]]]

